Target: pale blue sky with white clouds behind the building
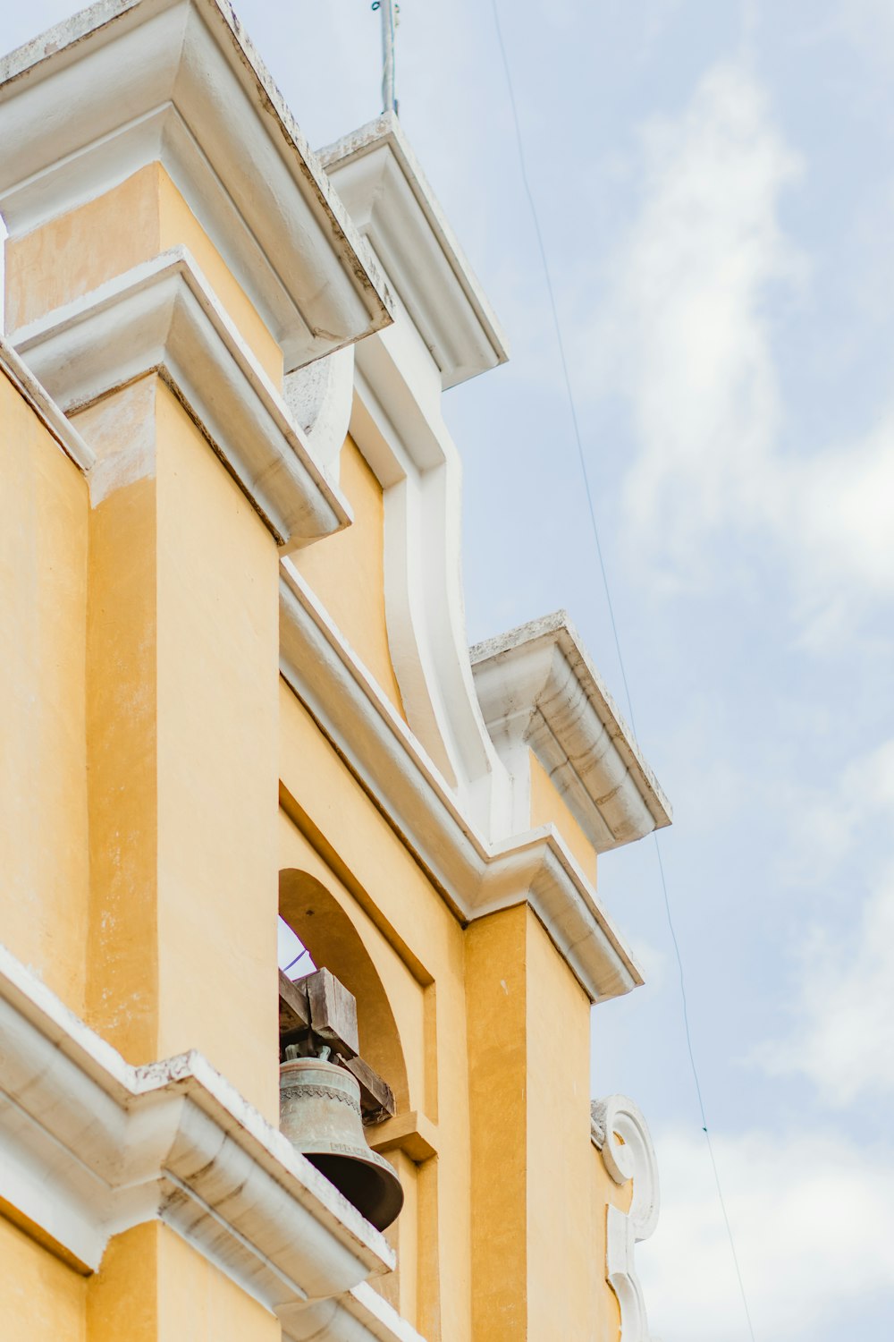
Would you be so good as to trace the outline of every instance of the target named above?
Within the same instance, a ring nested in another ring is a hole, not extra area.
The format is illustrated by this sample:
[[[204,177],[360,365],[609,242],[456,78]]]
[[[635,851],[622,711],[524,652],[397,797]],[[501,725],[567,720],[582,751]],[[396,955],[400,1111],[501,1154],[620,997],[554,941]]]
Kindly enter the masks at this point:
[[[894,7],[499,3],[755,1335],[889,1342]],[[369,0],[237,8],[311,144],[377,114]],[[469,641],[566,607],[623,703],[489,0],[402,0],[398,40],[512,350],[445,401]],[[657,1141],[653,1333],[745,1342],[651,841],[600,892],[647,974],[592,1078]]]

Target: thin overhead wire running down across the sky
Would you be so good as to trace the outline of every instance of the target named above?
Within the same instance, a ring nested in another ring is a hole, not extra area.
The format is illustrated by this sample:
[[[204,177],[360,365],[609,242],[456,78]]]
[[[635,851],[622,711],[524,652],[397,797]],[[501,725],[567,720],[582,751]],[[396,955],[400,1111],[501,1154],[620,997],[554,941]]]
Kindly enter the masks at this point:
[[[547,248],[546,248],[546,242],[544,242],[544,238],[543,238],[543,229],[540,227],[540,216],[539,216],[539,212],[537,212],[537,205],[536,205],[536,200],[533,197],[533,192],[531,189],[531,180],[528,177],[528,164],[527,164],[527,156],[525,156],[525,152],[524,152],[524,138],[523,138],[523,134],[521,134],[521,121],[520,121],[520,117],[519,117],[519,107],[517,107],[516,97],[515,97],[515,85],[513,85],[513,79],[512,79],[512,70],[509,67],[509,58],[508,58],[508,54],[507,54],[505,43],[503,40],[503,28],[501,28],[501,24],[500,24],[500,8],[499,8],[499,4],[497,4],[497,0],[491,0],[491,8],[493,11],[493,25],[496,28],[497,46],[500,48],[500,56],[501,56],[501,60],[503,60],[503,70],[504,70],[504,74],[505,74],[507,91],[508,91],[508,95],[509,95],[509,107],[512,110],[512,123],[515,126],[515,138],[516,138],[516,146],[517,146],[517,152],[519,152],[519,168],[521,170],[521,181],[523,181],[523,185],[524,185],[524,193],[525,193],[525,196],[528,199],[528,207],[531,209],[531,220],[533,223],[533,231],[535,231],[535,235],[536,235],[536,239],[537,239],[537,250],[540,252],[540,263],[543,266],[543,278],[544,278],[544,282],[546,282],[547,294],[550,297],[550,309],[551,309],[551,313],[552,313],[552,325],[555,327],[556,345],[558,345],[558,349],[559,349],[559,361],[562,364],[562,376],[563,376],[563,380],[564,380],[566,395],[567,395],[567,399],[568,399],[568,411],[571,413],[571,424],[572,424],[572,428],[574,428],[574,440],[575,440],[575,444],[576,444],[576,448],[578,448],[578,459],[579,459],[579,464],[580,464],[580,474],[582,474],[582,478],[583,478],[583,487],[584,487],[584,494],[586,494],[586,498],[587,498],[587,510],[590,513],[590,525],[591,525],[591,529],[592,529],[592,539],[594,539],[595,549],[596,549],[596,558],[599,561],[599,572],[602,574],[602,585],[603,585],[604,595],[606,595],[606,605],[609,608],[609,620],[611,623],[611,633],[613,633],[613,637],[614,637],[615,654],[617,654],[617,658],[618,658],[618,666],[621,668],[621,679],[623,682],[625,698],[627,701],[627,713],[630,715],[630,726],[633,727],[634,735],[637,735],[637,721],[635,721],[634,711],[633,711],[633,698],[631,698],[631,694],[630,694],[630,686],[627,683],[627,672],[626,672],[626,668],[625,668],[623,654],[621,651],[621,637],[618,635],[618,624],[615,621],[615,612],[614,612],[614,605],[613,605],[613,601],[611,601],[611,589],[610,589],[610,585],[609,585],[609,573],[606,570],[606,564],[604,564],[604,558],[603,558],[603,553],[602,553],[602,544],[599,541],[599,525],[596,522],[596,510],[595,510],[595,506],[594,506],[594,502],[592,502],[592,488],[591,488],[591,484],[590,484],[590,472],[587,470],[587,458],[586,458],[584,451],[583,451],[583,439],[582,439],[582,435],[580,435],[580,423],[578,420],[578,409],[576,409],[576,405],[575,405],[574,389],[572,389],[572,385],[571,385],[571,374],[570,374],[570,370],[568,370],[568,360],[567,360],[567,356],[566,356],[564,340],[563,340],[563,336],[562,336],[562,322],[559,319],[559,307],[558,307],[558,303],[556,303],[555,289],[552,286],[552,274],[550,271],[550,260],[548,260],[548,256],[547,256]],[[730,1249],[730,1253],[732,1253],[733,1267],[736,1270],[736,1280],[739,1283],[739,1291],[741,1294],[743,1308],[745,1311],[745,1321],[747,1321],[747,1325],[748,1325],[748,1333],[749,1333],[749,1337],[751,1337],[751,1342],[756,1342],[755,1327],[752,1325],[751,1310],[748,1307],[748,1295],[745,1292],[745,1283],[743,1280],[741,1268],[740,1268],[740,1264],[739,1264],[739,1253],[736,1252],[736,1240],[735,1240],[733,1229],[732,1229],[732,1225],[730,1225],[730,1221],[729,1221],[729,1216],[728,1216],[728,1212],[726,1212],[726,1201],[724,1198],[724,1190],[722,1190],[722,1185],[720,1182],[720,1173],[717,1170],[717,1161],[714,1158],[714,1149],[713,1149],[713,1143],[712,1143],[712,1139],[710,1139],[710,1131],[708,1129],[708,1117],[706,1117],[705,1102],[704,1102],[702,1091],[701,1091],[701,1082],[698,1079],[698,1067],[696,1066],[696,1055],[694,1055],[693,1043],[692,1043],[692,1031],[690,1031],[690,1027],[689,1027],[689,1004],[688,1004],[688,998],[686,998],[686,974],[684,972],[684,962],[682,962],[682,956],[681,956],[681,951],[680,951],[680,942],[677,939],[677,931],[676,931],[676,927],[674,927],[673,914],[672,914],[672,909],[670,909],[670,896],[669,896],[669,892],[667,892],[667,880],[666,880],[666,876],[665,876],[665,864],[663,864],[663,860],[662,860],[662,856],[661,856],[661,843],[659,843],[659,839],[658,839],[657,833],[653,835],[653,837],[654,837],[654,843],[655,843],[655,858],[658,860],[658,875],[659,875],[659,879],[661,879],[661,890],[662,890],[662,894],[663,894],[665,914],[666,914],[666,918],[667,918],[667,927],[670,930],[670,939],[673,942],[674,957],[676,957],[676,961],[677,961],[677,970],[678,970],[678,974],[680,974],[680,998],[681,998],[681,1004],[682,1004],[684,1032],[685,1032],[685,1036],[686,1036],[686,1051],[688,1051],[688,1055],[689,1055],[689,1066],[690,1066],[690,1070],[692,1070],[692,1078],[693,1078],[693,1083],[694,1083],[694,1087],[696,1087],[696,1096],[697,1096],[697,1100],[698,1100],[698,1113],[701,1115],[701,1130],[705,1134],[705,1142],[708,1145],[708,1155],[709,1155],[710,1168],[712,1168],[713,1176],[714,1176],[714,1186],[717,1189],[717,1200],[720,1202],[720,1209],[721,1209],[721,1213],[722,1213],[722,1217],[724,1217],[724,1225],[726,1228],[726,1236],[729,1239],[729,1249]]]

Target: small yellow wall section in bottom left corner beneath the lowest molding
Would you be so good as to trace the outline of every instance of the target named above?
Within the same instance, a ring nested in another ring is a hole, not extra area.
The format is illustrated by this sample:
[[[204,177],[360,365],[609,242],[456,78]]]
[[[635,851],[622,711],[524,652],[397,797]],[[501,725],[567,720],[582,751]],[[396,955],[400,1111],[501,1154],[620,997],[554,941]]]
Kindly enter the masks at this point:
[[[0,1216],[3,1342],[88,1342],[86,1303],[86,1279]]]

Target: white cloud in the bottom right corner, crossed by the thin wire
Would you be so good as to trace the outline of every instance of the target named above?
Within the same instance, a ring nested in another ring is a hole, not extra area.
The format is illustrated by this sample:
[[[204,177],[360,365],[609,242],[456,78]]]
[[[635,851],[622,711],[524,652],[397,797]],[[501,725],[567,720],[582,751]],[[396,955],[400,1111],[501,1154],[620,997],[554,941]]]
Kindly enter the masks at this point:
[[[638,1249],[651,1331],[662,1342],[741,1342],[745,1317],[705,1142],[672,1133],[657,1150],[661,1220]],[[820,1329],[847,1337],[854,1306],[865,1321],[874,1292],[890,1314],[894,1153],[844,1134],[767,1130],[714,1138],[714,1154],[761,1342],[814,1342]]]

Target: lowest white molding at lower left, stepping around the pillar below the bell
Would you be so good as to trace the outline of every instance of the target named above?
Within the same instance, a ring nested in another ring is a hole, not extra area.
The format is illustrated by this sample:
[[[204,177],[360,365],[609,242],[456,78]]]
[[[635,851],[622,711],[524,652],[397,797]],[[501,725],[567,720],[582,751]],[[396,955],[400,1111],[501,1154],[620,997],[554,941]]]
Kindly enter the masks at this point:
[[[0,1039],[0,1196],[84,1270],[162,1221],[288,1338],[308,1335],[307,1302],[374,1314],[362,1283],[394,1267],[385,1237],[200,1053],[130,1067],[3,946]],[[413,1335],[382,1317],[351,1337]]]

